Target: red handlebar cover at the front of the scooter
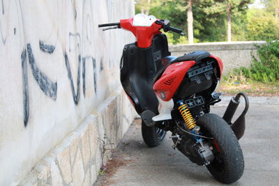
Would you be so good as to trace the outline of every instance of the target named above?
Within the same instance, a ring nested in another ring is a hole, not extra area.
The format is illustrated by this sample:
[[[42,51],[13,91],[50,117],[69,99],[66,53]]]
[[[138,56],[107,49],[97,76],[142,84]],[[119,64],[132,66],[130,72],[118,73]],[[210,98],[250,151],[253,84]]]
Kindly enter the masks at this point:
[[[151,26],[133,26],[133,18],[121,20],[120,26],[122,29],[131,31],[137,38],[137,47],[147,48],[152,45],[153,37],[161,33],[159,30],[162,25],[155,22]]]

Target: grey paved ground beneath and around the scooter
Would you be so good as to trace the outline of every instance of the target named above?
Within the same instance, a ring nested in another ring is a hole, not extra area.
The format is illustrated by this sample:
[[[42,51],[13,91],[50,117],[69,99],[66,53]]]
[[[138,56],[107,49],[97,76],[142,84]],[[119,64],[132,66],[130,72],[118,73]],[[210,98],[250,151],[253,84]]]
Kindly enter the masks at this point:
[[[224,100],[226,103],[229,99]],[[279,99],[250,100],[246,134],[240,140],[245,170],[232,185],[279,185]],[[211,112],[223,116],[225,104],[219,105]],[[140,119],[135,120],[108,164],[107,173],[99,176],[95,185],[221,185],[206,167],[193,164],[171,146],[171,139],[166,137],[160,146],[148,148],[142,140]]]

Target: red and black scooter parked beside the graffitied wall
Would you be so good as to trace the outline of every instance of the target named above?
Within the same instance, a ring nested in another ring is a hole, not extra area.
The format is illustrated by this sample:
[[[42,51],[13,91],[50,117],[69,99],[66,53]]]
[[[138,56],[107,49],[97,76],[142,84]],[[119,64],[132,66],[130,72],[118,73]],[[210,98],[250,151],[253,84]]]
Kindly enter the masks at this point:
[[[190,161],[206,166],[216,180],[222,183],[239,180],[244,160],[238,139],[245,130],[248,98],[244,93],[232,98],[223,118],[209,114],[210,106],[220,102],[220,93],[215,89],[223,70],[221,59],[204,51],[170,56],[167,37],[160,29],[184,33],[169,26],[169,21],[153,16],[140,14],[99,25],[105,26],[126,29],[137,38],[137,42],[123,49],[121,84],[142,118],[145,143],[158,146],[166,132],[171,131],[173,148],[178,148]],[[241,95],[246,108],[231,123]]]

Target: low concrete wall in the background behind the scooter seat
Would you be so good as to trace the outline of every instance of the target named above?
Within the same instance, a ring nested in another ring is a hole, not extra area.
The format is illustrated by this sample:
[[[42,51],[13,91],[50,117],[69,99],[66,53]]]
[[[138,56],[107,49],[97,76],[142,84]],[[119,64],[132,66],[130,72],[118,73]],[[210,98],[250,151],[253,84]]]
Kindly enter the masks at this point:
[[[209,42],[194,45],[173,45],[169,47],[169,50],[172,52],[172,56],[182,56],[195,50],[208,51],[223,60],[223,72],[227,75],[234,68],[250,66],[252,62],[251,54],[257,54],[255,44],[263,45],[264,43],[264,41]]]

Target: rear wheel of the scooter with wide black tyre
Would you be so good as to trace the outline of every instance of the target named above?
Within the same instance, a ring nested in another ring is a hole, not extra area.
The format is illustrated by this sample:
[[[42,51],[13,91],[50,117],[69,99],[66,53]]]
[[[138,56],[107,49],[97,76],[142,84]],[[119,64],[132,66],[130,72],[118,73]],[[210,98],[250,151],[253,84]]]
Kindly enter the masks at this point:
[[[214,160],[206,168],[221,183],[234,183],[243,174],[244,159],[239,141],[231,127],[216,114],[204,114],[197,120],[204,135],[213,137]],[[215,141],[214,141],[215,140]]]

